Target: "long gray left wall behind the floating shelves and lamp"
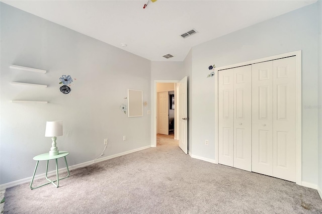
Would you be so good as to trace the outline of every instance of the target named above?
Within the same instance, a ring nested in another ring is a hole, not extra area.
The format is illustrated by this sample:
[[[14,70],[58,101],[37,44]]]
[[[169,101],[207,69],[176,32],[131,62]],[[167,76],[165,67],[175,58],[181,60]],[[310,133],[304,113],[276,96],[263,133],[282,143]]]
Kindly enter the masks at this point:
[[[10,64],[47,73],[15,71]],[[150,103],[150,68],[147,59],[1,3],[1,184],[32,176],[33,157],[51,147],[51,139],[44,136],[46,121],[63,121],[57,146],[70,152],[70,166],[99,156],[104,138],[109,144],[102,158],[149,146],[150,115],[144,111],[143,117],[128,118],[119,106],[125,103],[127,88],[143,90],[143,100]],[[69,94],[59,91],[63,74],[76,79]],[[44,164],[39,173],[44,173]]]

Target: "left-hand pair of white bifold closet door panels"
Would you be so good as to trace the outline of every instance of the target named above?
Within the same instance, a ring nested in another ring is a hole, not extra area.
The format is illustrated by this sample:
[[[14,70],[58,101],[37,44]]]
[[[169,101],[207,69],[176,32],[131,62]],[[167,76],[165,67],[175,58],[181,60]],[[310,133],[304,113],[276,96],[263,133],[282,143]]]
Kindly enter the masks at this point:
[[[218,71],[218,162],[252,169],[252,67]]]

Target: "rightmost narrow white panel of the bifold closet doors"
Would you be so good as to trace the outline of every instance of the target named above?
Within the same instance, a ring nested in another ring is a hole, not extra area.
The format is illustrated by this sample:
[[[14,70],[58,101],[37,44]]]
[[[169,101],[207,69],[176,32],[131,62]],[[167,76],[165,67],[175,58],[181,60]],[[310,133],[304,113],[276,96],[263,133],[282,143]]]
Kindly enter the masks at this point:
[[[295,57],[273,61],[273,176],[296,181]]]

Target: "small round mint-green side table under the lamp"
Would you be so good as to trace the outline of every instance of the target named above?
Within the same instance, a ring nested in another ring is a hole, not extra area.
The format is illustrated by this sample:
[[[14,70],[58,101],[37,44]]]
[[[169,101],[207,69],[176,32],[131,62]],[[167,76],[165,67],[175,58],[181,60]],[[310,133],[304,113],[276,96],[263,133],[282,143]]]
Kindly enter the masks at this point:
[[[68,169],[68,165],[67,165],[67,160],[66,160],[66,156],[69,154],[69,152],[66,152],[66,151],[59,151],[59,154],[58,155],[53,155],[53,156],[50,156],[49,155],[49,152],[47,153],[44,153],[44,154],[41,154],[41,155],[37,155],[35,156],[33,159],[37,161],[36,163],[36,168],[35,168],[35,171],[34,171],[34,174],[32,176],[32,179],[31,179],[31,182],[30,182],[30,188],[31,189],[36,189],[38,187],[41,187],[41,186],[44,186],[44,185],[47,185],[49,183],[52,183],[54,186],[58,187],[59,186],[59,180],[61,179],[64,179],[64,178],[67,178],[69,177],[69,169]],[[67,176],[66,177],[63,177],[63,178],[58,178],[58,163],[57,163],[57,159],[58,158],[64,158],[65,159],[65,163],[66,163],[66,168],[67,168]],[[48,173],[48,163],[49,163],[49,160],[53,160],[55,159],[56,160],[56,177],[57,179],[56,180],[50,180],[47,176],[47,173]],[[37,167],[38,167],[38,163],[39,161],[41,160],[46,160],[47,161],[47,165],[46,165],[46,179],[49,181],[48,183],[45,183],[45,184],[42,184],[40,186],[36,186],[36,187],[32,187],[32,182],[34,181],[34,178],[35,178],[35,174],[36,174],[36,171],[37,171]],[[57,182],[56,182],[57,181]],[[56,184],[56,183],[57,184]]]

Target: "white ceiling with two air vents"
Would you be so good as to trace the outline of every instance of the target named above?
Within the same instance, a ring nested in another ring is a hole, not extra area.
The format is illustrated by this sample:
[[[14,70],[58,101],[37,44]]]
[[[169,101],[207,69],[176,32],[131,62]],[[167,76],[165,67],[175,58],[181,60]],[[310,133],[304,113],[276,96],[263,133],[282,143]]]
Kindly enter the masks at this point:
[[[316,1],[2,2],[152,61],[183,61],[195,45]],[[180,36],[191,29],[199,33]]]

